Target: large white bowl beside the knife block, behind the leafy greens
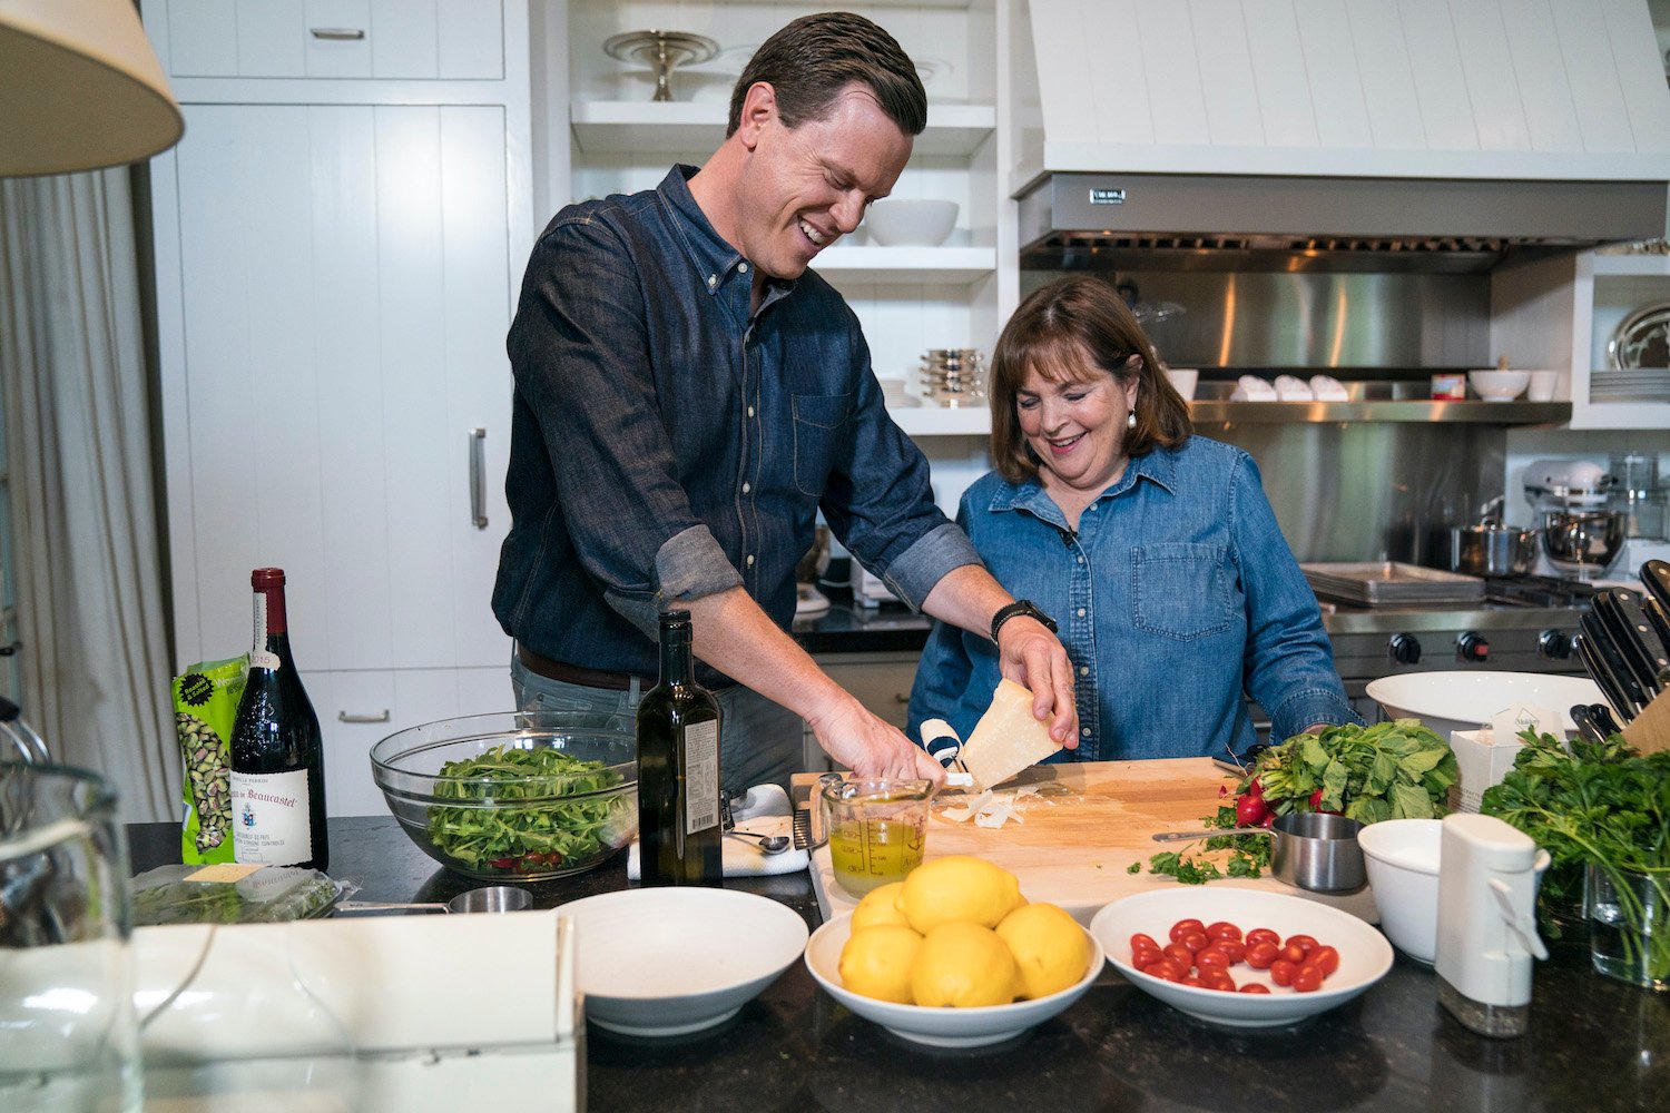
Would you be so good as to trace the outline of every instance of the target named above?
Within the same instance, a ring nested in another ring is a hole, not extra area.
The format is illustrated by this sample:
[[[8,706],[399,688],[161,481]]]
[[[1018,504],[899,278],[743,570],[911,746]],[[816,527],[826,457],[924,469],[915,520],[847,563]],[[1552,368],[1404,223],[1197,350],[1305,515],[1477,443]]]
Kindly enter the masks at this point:
[[[1571,738],[1571,704],[1607,703],[1586,676],[1541,672],[1403,672],[1369,681],[1366,691],[1389,718],[1420,719],[1446,743],[1451,731],[1476,731],[1513,704],[1560,713],[1560,726]]]

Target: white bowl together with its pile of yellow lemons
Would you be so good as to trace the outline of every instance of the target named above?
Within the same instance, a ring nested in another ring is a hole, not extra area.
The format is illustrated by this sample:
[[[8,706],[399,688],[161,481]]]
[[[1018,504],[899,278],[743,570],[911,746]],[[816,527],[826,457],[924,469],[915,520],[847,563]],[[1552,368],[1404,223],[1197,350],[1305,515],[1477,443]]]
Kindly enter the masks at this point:
[[[1084,996],[1106,961],[1072,916],[1029,904],[1014,874],[965,856],[875,889],[813,931],[805,954],[837,1001],[935,1048],[1019,1036]]]

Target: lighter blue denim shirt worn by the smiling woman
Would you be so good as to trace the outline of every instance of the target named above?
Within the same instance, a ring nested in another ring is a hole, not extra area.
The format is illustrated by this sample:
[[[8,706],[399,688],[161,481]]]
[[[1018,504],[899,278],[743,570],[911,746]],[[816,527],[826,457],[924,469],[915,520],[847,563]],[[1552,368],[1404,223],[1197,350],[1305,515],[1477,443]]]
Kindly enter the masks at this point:
[[[1189,437],[1131,461],[1067,527],[1037,481],[997,472],[957,521],[997,581],[1060,624],[1080,738],[1062,759],[1242,754],[1256,741],[1242,692],[1273,738],[1359,723],[1323,616],[1241,449]],[[1000,672],[995,646],[935,624],[910,694],[910,733],[944,718],[969,738]]]

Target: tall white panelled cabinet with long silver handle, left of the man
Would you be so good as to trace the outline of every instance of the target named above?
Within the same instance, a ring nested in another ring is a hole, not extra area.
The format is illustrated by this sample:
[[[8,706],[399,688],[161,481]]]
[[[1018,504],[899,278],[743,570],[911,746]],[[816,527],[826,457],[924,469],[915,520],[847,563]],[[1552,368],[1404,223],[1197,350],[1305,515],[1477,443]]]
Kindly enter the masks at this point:
[[[508,77],[177,80],[150,167],[175,664],[245,649],[249,571],[284,567],[337,814],[376,738],[511,706],[489,597],[533,239],[526,8],[357,7],[412,40],[474,12]],[[147,10],[152,40],[197,17]]]

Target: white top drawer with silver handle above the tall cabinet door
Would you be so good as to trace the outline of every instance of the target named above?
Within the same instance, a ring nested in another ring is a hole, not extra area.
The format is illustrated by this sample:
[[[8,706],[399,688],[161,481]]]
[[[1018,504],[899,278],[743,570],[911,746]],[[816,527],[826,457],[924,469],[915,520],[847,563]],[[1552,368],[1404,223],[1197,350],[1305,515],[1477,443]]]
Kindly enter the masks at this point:
[[[167,0],[174,77],[499,80],[503,0]]]

